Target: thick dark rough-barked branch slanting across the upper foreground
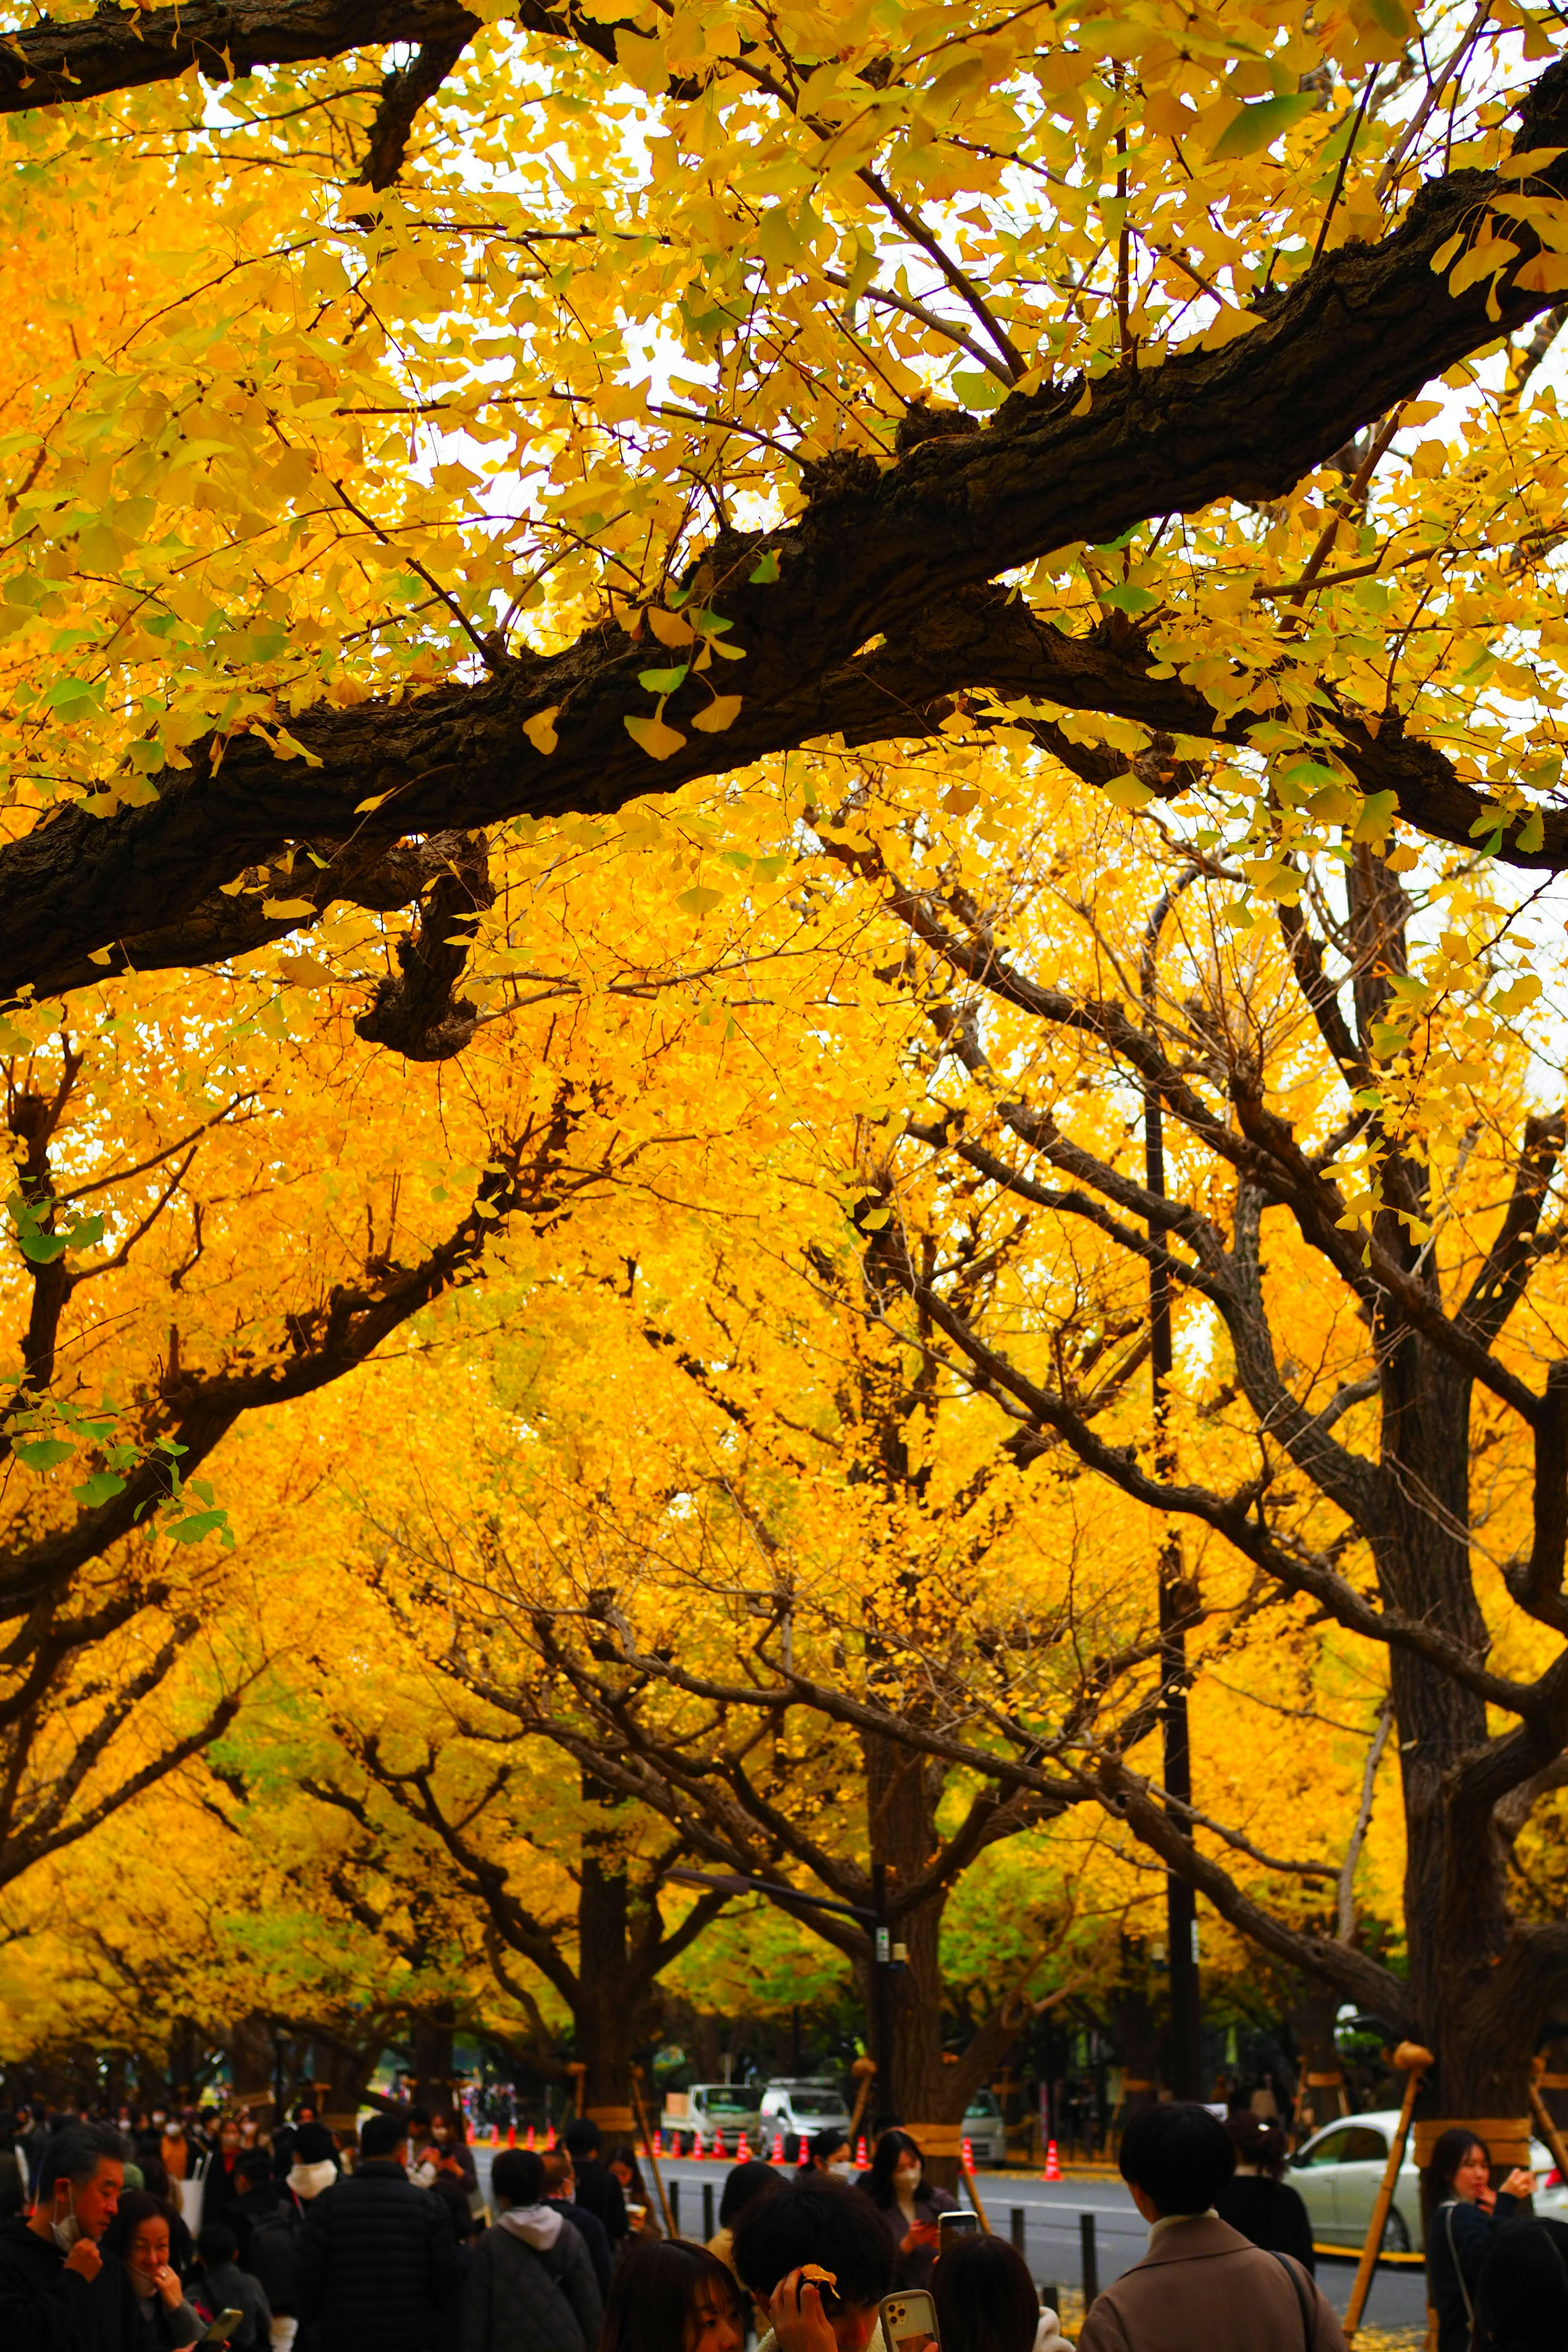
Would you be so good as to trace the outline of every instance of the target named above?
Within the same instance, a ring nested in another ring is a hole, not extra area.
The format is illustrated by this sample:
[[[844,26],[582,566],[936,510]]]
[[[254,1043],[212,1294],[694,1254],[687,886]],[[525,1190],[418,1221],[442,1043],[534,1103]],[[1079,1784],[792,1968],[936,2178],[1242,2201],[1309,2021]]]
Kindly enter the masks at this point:
[[[397,31],[407,35],[407,21]],[[364,38],[362,26],[350,38]],[[1523,115],[1523,146],[1563,151],[1540,174],[1542,193],[1544,183],[1568,188],[1568,66],[1540,78]],[[705,687],[686,680],[665,708],[686,741],[661,764],[623,724],[646,713],[644,654],[618,630],[595,628],[550,661],[501,661],[473,687],[303,713],[294,734],[320,767],[280,760],[259,736],[230,739],[221,764],[216,743],[197,743],[188,771],[165,774],[148,807],[54,816],[0,851],[12,908],[0,995],[26,983],[49,993],[92,950],[143,931],[148,903],[179,922],[280,840],[343,840],[362,823],[362,840],[388,844],[517,814],[602,811],[743,767],[842,724],[830,682],[849,670],[863,691],[853,652],[877,630],[898,644],[933,602],[1051,548],[1114,539],[1150,515],[1284,496],[1371,419],[1549,308],[1547,294],[1505,282],[1500,318],[1488,318],[1486,287],[1455,299],[1432,270],[1436,247],[1497,188],[1479,172],[1432,181],[1392,238],[1326,254],[1251,334],[1100,379],[1086,414],[1077,383],[1013,393],[980,433],[924,440],[884,473],[867,459],[837,492],[820,485],[788,529],[719,534],[693,586],[733,623],[743,708],[729,734],[691,734],[682,722],[703,708]],[[1530,233],[1514,238],[1526,259]],[[750,576],[764,546],[778,557],[776,583]],[[559,746],[543,755],[522,727],[552,706]],[[905,727],[891,706],[886,734]],[[1394,739],[1385,729],[1368,753]],[[360,821],[367,795],[381,807]],[[1469,842],[1474,807],[1448,814]],[[1516,851],[1509,828],[1502,847]]]

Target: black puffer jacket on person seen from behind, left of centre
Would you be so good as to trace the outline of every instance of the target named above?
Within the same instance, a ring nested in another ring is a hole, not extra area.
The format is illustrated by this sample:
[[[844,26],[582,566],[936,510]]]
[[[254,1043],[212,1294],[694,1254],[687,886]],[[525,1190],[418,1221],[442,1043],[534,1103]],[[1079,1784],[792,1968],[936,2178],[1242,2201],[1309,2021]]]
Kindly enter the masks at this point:
[[[433,2352],[456,2277],[447,2206],[371,2157],[306,2206],[294,2256],[306,2352]]]

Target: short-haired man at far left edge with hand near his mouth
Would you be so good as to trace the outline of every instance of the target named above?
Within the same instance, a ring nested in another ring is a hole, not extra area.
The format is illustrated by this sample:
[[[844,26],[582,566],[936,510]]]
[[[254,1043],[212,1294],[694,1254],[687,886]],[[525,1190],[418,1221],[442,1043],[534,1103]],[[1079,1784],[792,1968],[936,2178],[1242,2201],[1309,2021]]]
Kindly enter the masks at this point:
[[[5,2352],[132,2352],[141,2312],[99,2239],[120,2206],[125,2140],[68,2124],[45,2145],[31,2220],[0,2225]]]

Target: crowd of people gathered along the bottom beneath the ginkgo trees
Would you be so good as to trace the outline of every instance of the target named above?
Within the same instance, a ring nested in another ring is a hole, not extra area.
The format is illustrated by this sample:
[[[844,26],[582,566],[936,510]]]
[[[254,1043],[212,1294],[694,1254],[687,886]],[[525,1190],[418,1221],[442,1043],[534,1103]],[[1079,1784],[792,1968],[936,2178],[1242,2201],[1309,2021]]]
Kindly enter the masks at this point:
[[[308,2107],[273,2138],[244,2119],[42,2122],[0,2129],[0,2352],[1065,2343],[1011,2244],[943,2230],[957,2201],[900,2129],[860,2173],[837,2131],[806,2143],[792,2176],[736,2164],[703,2246],[663,2234],[637,2150],[607,2150],[583,2117],[555,2150],[498,2150],[489,2199],[461,2112],[376,2112],[346,2143]],[[1093,2303],[1079,2352],[1345,2352],[1276,2129],[1168,2103],[1128,2122],[1119,2164],[1150,2246]],[[193,2237],[179,2183],[197,2171]],[[1439,2352],[1566,2352],[1568,2227],[1533,2220],[1528,2194],[1528,2173],[1493,2192],[1472,2131],[1439,2138]]]

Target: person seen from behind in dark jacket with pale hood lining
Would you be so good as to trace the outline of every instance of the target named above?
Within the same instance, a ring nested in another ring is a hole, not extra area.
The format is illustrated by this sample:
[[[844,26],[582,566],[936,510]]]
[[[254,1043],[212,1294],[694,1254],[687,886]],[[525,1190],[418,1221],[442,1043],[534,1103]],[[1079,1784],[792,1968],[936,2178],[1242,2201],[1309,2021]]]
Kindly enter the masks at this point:
[[[489,2176],[496,2225],[473,2251],[463,2352],[595,2352],[604,2305],[588,2246],[545,2199],[545,2164],[508,2147]]]

